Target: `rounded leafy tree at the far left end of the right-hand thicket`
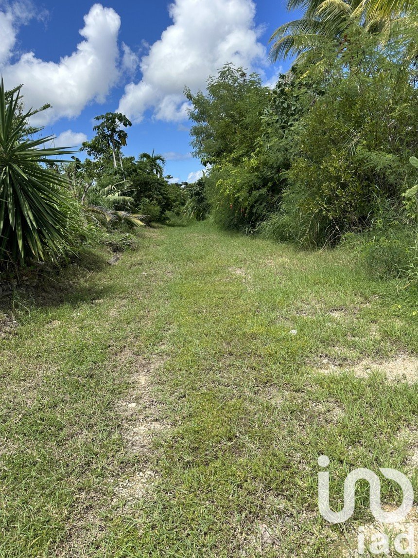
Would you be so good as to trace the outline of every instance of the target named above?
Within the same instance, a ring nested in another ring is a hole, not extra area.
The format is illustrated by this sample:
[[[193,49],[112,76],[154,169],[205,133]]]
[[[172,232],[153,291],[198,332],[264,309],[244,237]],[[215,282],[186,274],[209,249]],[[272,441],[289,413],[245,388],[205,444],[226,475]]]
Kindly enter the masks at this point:
[[[193,105],[195,154],[210,163],[206,191],[212,214],[223,227],[252,230],[279,203],[289,165],[284,143],[302,110],[297,87],[281,76],[271,90],[260,76],[227,65],[207,90],[186,95]]]

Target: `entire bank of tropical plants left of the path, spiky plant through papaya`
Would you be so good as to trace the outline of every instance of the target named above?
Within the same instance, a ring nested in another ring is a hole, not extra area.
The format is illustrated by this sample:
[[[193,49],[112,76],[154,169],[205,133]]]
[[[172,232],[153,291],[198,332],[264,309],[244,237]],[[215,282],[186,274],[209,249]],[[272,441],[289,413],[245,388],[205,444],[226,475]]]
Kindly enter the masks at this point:
[[[96,117],[95,136],[84,142],[84,161],[70,148],[48,147],[28,119],[20,88],[0,87],[0,268],[59,262],[80,246],[109,244],[109,229],[143,227],[184,213],[186,191],[164,177],[162,155],[125,157],[124,114]],[[65,156],[65,159],[60,157]],[[82,242],[80,242],[82,240]],[[120,244],[120,243],[118,243]],[[125,242],[130,245],[131,242]]]

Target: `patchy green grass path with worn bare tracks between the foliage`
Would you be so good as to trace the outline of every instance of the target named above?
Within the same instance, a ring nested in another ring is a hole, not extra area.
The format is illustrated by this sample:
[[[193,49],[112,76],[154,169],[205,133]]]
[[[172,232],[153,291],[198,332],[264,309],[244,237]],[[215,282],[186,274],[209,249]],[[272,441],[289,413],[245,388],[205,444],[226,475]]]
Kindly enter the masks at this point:
[[[337,557],[367,485],[330,528],[319,455],[334,502],[359,466],[417,487],[414,371],[384,374],[415,362],[416,297],[349,254],[196,224],[71,273],[0,341],[1,558]]]

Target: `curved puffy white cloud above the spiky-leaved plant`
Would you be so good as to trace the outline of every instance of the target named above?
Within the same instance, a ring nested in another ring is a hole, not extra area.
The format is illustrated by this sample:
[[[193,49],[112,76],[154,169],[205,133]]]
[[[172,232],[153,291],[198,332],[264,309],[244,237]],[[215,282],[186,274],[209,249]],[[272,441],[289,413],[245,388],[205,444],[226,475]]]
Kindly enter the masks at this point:
[[[5,13],[3,26],[7,25]],[[120,17],[112,8],[94,4],[84,16],[84,28],[80,30],[85,40],[59,63],[40,60],[33,52],[26,52],[14,64],[3,63],[3,68],[0,63],[8,89],[25,84],[22,93],[26,107],[52,104],[52,109],[32,117],[33,124],[76,117],[89,102],[104,102],[118,78],[119,28]],[[1,48],[4,56],[4,47]]]

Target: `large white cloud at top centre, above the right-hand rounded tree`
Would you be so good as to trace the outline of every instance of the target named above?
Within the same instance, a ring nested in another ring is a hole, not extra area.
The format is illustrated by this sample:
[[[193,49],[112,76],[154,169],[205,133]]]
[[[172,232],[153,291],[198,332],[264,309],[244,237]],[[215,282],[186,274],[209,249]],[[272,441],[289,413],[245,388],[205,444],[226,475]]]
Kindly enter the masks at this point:
[[[140,61],[142,80],[130,83],[119,111],[136,122],[145,110],[164,121],[187,118],[184,86],[205,88],[208,76],[226,62],[254,68],[264,64],[253,0],[175,0],[169,26]]]

